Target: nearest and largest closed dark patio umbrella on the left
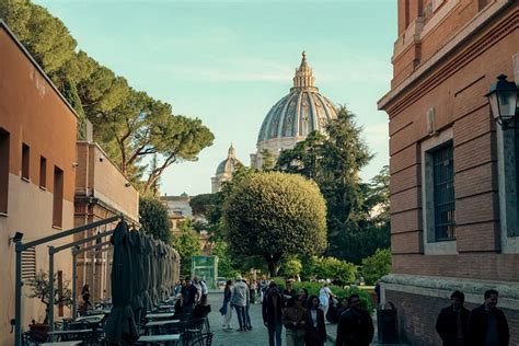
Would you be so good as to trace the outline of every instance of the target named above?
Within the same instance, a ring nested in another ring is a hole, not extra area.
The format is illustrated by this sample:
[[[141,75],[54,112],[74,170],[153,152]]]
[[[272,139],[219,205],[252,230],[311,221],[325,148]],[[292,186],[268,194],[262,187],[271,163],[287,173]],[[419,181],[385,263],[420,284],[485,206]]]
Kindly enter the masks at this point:
[[[112,237],[114,260],[112,264],[112,311],[105,325],[106,339],[113,343],[136,342],[139,337],[131,311],[134,265],[131,242],[126,222],[119,222]]]

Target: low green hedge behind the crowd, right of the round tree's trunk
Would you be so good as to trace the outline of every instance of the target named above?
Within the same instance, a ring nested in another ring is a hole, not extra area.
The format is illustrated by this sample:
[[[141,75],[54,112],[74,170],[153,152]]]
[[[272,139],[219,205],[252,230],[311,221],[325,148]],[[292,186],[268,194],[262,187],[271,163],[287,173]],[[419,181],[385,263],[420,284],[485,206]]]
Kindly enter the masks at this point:
[[[285,289],[285,279],[282,277],[275,277],[273,278],[273,280],[276,282],[280,290]],[[321,289],[321,287],[323,287],[323,284],[309,281],[292,282],[292,287],[296,291],[298,291],[300,288],[305,288],[308,290],[309,296],[319,297],[319,290]],[[365,309],[366,311],[373,310],[373,303],[371,301],[371,295],[369,290],[365,290],[357,286],[342,288],[335,285],[330,285],[330,289],[337,297],[338,301],[343,300],[344,298],[348,298],[354,293],[357,293],[360,296],[360,305],[362,307],[362,309]]]

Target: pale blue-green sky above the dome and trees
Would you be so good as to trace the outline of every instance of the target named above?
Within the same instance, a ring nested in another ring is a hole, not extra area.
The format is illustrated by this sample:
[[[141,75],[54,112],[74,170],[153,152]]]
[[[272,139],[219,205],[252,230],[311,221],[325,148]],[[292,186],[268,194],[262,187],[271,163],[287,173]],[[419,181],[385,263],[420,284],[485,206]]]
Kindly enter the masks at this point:
[[[365,127],[376,158],[362,178],[389,162],[388,118],[377,101],[390,88],[396,1],[35,2],[65,22],[80,49],[215,134],[197,162],[164,173],[162,194],[209,193],[231,142],[250,164],[260,126],[288,93],[302,50],[320,92],[346,104]]]

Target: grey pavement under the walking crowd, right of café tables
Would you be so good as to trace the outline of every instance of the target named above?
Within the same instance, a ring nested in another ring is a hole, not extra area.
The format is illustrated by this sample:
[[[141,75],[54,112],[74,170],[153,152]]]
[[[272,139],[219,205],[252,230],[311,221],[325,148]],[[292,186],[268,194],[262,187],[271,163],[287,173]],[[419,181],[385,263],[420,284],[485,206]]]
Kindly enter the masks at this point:
[[[250,332],[238,332],[238,319],[235,316],[235,311],[232,314],[232,331],[223,331],[221,327],[222,316],[218,310],[221,307],[223,299],[223,293],[209,293],[208,300],[211,304],[211,313],[209,313],[209,323],[211,325],[211,332],[215,333],[215,338],[212,339],[212,345],[216,346],[227,346],[227,345],[246,345],[246,346],[268,346],[268,332],[267,328],[263,325],[262,319],[262,305],[252,304],[251,305],[251,321],[252,321],[252,331]],[[282,344],[285,345],[285,330],[282,331]],[[333,344],[327,343],[326,346],[332,346]]]

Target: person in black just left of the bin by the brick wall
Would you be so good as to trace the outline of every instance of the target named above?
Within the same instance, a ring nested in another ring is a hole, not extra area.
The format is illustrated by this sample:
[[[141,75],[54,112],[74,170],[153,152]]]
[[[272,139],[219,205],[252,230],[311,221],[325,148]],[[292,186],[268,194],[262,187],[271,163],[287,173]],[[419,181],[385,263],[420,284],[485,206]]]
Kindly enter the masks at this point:
[[[373,338],[373,321],[360,308],[359,295],[348,298],[349,309],[343,312],[337,325],[336,346],[369,346]]]

